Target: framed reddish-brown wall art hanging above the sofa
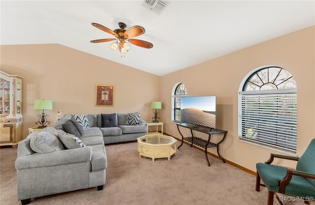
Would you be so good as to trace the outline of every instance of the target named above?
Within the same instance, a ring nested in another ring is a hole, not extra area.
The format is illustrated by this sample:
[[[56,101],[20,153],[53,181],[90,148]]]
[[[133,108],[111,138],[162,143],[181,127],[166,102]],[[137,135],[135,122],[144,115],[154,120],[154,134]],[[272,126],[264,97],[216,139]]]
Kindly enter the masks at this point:
[[[95,106],[114,106],[114,86],[95,86]]]

